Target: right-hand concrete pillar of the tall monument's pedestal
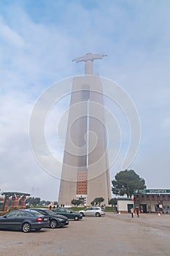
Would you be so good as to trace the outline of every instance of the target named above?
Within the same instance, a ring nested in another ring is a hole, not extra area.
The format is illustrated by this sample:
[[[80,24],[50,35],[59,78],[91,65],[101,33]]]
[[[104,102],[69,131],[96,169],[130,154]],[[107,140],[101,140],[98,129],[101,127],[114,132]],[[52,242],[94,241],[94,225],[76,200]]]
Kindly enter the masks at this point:
[[[107,151],[107,128],[105,123],[103,86],[100,78],[90,78],[90,107],[89,107],[89,155],[88,155],[88,199],[87,203],[95,197],[103,197],[104,204],[108,205],[111,197],[109,178],[109,159]],[[97,141],[93,151],[93,134]]]

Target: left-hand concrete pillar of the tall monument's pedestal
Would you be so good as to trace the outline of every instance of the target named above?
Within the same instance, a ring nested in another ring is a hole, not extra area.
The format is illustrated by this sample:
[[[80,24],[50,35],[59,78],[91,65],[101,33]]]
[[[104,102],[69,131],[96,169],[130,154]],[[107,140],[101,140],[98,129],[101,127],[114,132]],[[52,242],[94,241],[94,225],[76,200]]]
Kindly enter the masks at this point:
[[[58,196],[59,204],[69,204],[77,195],[77,170],[84,170],[87,165],[87,147],[85,134],[87,132],[86,93],[82,86],[73,81],[72,98],[70,102],[69,119],[66,132],[66,143],[63,154],[61,185]],[[77,103],[81,103],[77,105]],[[77,118],[78,117],[78,118]],[[81,152],[79,152],[80,148]]]

